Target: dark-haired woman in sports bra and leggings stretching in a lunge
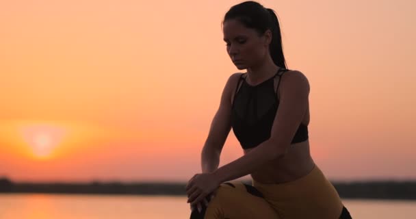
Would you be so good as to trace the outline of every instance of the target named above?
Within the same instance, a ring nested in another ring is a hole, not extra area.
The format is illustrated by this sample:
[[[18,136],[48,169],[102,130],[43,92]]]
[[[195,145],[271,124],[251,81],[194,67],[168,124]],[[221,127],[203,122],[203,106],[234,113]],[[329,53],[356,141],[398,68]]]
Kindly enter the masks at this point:
[[[350,218],[309,153],[309,82],[286,69],[276,14],[254,1],[224,16],[224,41],[239,70],[229,77],[187,184],[191,218]],[[233,128],[244,156],[220,168]],[[226,182],[250,174],[252,185]]]

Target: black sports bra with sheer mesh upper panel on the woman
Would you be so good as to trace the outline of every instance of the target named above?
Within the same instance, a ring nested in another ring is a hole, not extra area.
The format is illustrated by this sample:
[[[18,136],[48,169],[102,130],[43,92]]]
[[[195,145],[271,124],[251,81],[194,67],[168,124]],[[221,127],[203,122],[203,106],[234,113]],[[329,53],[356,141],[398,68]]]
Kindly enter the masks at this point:
[[[273,77],[257,86],[250,86],[242,77],[245,74],[239,77],[231,111],[231,126],[243,149],[253,148],[270,138],[278,108],[278,86],[281,76],[287,71],[279,68]],[[277,75],[280,78],[275,92],[274,78]],[[301,123],[291,143],[303,142],[307,139],[308,127]]]

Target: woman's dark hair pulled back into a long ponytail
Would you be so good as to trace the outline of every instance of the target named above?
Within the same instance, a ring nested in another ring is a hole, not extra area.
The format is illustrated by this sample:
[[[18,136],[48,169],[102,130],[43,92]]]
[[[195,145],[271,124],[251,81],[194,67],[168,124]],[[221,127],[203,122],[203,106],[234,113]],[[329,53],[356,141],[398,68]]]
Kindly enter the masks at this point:
[[[270,55],[274,64],[281,68],[287,68],[283,45],[281,27],[278,23],[276,13],[270,8],[255,1],[244,1],[230,8],[224,16],[224,23],[227,20],[236,19],[245,27],[255,29],[259,34],[264,34],[268,29],[272,31],[272,42],[269,46]]]

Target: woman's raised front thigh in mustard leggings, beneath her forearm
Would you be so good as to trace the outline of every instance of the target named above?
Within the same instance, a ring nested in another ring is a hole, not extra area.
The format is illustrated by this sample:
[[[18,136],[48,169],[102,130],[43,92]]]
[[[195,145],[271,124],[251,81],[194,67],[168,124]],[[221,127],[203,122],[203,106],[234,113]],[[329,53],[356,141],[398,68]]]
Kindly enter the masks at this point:
[[[251,185],[239,182],[222,183],[214,193],[216,195],[201,214],[192,212],[192,219],[279,219],[276,211],[265,201],[263,195]]]

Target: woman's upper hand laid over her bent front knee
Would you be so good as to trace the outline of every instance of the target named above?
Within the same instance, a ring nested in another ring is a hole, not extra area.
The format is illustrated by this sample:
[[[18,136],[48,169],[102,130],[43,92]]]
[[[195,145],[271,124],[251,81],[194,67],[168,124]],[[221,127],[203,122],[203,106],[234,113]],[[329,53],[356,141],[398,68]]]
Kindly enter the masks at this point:
[[[200,203],[203,201],[203,198],[211,194],[219,186],[220,181],[211,172],[194,175],[186,186],[187,203],[191,203],[191,206]]]

